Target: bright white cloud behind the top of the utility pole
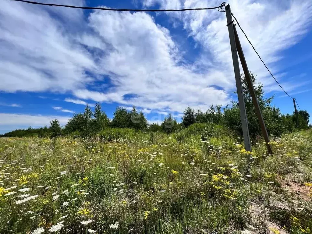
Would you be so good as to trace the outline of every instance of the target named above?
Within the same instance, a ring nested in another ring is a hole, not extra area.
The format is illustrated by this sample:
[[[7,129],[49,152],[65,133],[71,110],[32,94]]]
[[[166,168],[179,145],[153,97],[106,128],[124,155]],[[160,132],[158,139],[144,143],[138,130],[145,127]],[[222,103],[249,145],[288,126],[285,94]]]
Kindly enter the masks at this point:
[[[159,3],[161,8],[190,8],[212,7],[220,4],[217,0],[145,0],[145,6],[154,6]],[[285,69],[276,63],[282,56],[281,51],[295,45],[306,34],[312,19],[312,2],[305,1],[251,1],[231,0],[231,11],[246,32],[250,41],[278,77],[279,71]],[[206,54],[211,55],[208,61],[214,67],[222,67],[222,73],[227,76],[228,84],[234,84],[232,56],[229,44],[228,29],[225,27],[226,14],[218,11],[189,11],[168,13],[174,19],[182,22],[189,35],[203,47],[201,61],[207,63]],[[267,91],[281,91],[259,60],[250,44],[236,27],[244,50],[248,68],[258,75],[265,87],[274,85],[274,89]],[[212,69],[213,70],[213,69]],[[242,69],[241,69],[242,71]],[[285,77],[284,77],[285,80]],[[287,90],[293,90],[294,81],[284,84]],[[299,85],[304,85],[299,82]],[[222,87],[229,88],[227,85]],[[298,86],[297,86],[298,87]]]

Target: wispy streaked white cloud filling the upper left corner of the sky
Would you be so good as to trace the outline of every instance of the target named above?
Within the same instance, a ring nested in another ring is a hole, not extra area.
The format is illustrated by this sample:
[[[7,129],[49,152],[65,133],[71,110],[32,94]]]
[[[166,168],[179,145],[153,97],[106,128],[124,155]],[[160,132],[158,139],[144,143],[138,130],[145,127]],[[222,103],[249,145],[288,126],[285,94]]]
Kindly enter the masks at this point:
[[[78,9],[57,8],[1,3],[0,71],[5,79],[0,90],[65,92],[92,80],[85,70],[94,70],[95,63],[89,52],[75,42],[73,32],[83,29],[79,26],[84,25],[83,14]]]

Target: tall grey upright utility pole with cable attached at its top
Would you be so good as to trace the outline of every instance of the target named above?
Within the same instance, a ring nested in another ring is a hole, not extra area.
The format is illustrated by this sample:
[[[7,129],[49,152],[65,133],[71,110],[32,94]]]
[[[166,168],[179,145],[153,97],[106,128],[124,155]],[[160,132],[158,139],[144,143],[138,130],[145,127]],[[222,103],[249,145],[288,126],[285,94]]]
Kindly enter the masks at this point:
[[[247,115],[246,115],[245,100],[244,100],[244,95],[243,95],[243,87],[241,85],[241,72],[239,69],[238,56],[237,56],[237,51],[236,51],[234,24],[233,24],[233,19],[232,19],[231,7],[229,4],[227,4],[227,6],[225,7],[225,11],[226,11],[226,15],[227,15],[227,28],[229,30],[229,37],[230,37],[232,59],[233,59],[233,66],[234,66],[234,74],[235,74],[235,81],[236,81],[236,88],[237,88],[237,95],[238,95],[238,105],[239,105],[240,115],[241,115],[241,127],[243,130],[244,144],[245,144],[246,151],[251,152],[251,143],[250,143],[250,136],[249,136],[249,129],[248,129],[248,120],[247,120]]]

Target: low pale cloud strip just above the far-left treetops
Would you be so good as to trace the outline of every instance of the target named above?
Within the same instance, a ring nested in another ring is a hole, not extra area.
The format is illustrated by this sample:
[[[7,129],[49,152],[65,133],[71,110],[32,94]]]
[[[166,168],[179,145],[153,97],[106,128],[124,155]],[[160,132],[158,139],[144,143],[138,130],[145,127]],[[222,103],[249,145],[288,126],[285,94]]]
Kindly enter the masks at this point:
[[[43,115],[26,115],[26,114],[7,114],[0,113],[0,132],[5,133],[20,128],[33,128],[49,126],[50,121],[58,119],[61,125],[65,125],[69,117],[64,116],[43,116]]]

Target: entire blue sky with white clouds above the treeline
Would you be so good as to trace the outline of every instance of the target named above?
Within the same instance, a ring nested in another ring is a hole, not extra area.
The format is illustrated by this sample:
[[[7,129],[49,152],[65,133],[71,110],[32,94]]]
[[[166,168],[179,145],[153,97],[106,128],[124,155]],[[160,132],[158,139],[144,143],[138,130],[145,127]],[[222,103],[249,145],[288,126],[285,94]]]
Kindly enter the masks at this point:
[[[65,125],[97,101],[112,118],[136,105],[150,122],[190,105],[207,110],[236,99],[225,13],[83,11],[1,1],[0,133]],[[221,1],[41,1],[111,8],[191,8]],[[231,9],[280,84],[312,113],[312,2],[232,0]],[[239,31],[239,30],[238,30]],[[239,31],[248,67],[282,113],[280,90]],[[242,69],[241,69],[242,72]]]

